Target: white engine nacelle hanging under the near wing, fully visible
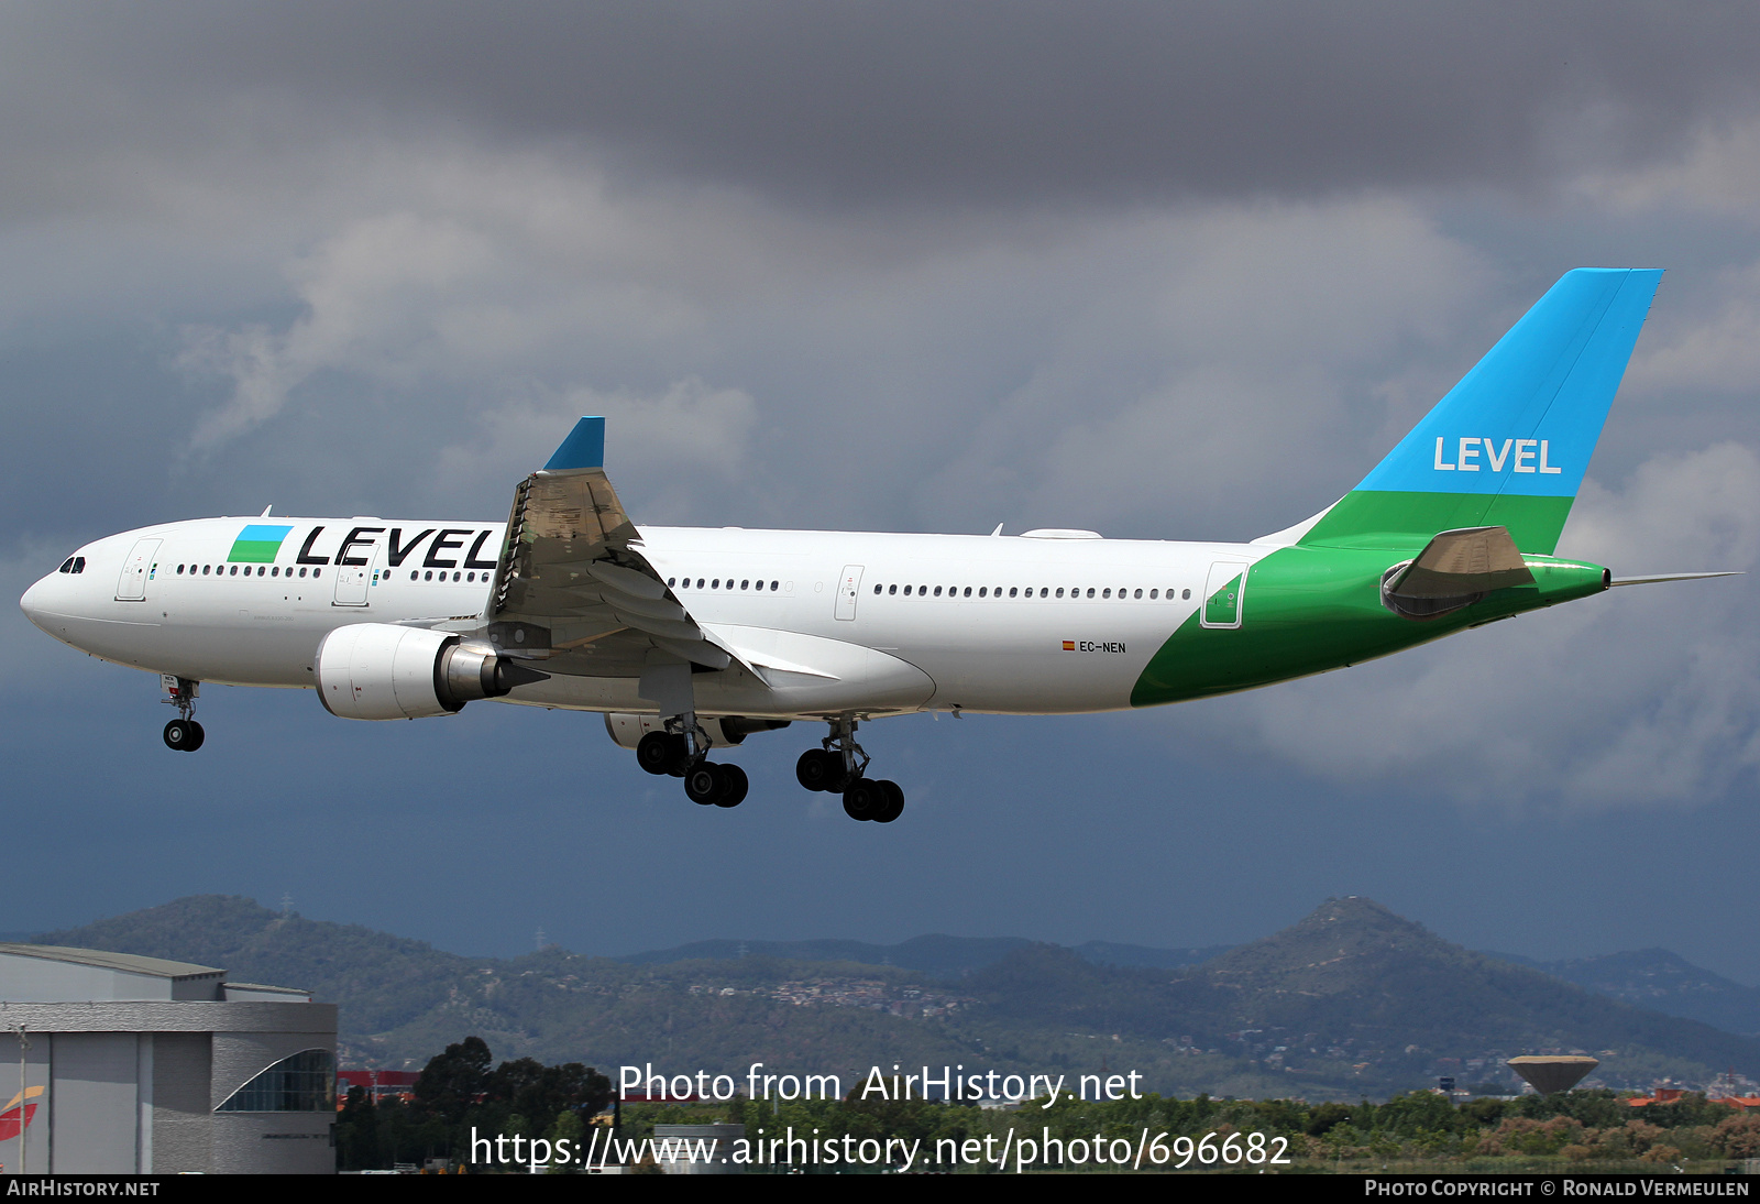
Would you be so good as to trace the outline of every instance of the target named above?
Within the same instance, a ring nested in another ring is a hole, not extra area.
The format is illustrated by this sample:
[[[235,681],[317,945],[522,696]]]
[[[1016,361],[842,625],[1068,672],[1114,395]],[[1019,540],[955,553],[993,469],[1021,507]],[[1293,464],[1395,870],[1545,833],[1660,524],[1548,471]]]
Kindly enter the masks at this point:
[[[466,702],[498,699],[546,676],[489,644],[391,623],[338,627],[319,644],[313,671],[324,709],[359,720],[456,715]]]

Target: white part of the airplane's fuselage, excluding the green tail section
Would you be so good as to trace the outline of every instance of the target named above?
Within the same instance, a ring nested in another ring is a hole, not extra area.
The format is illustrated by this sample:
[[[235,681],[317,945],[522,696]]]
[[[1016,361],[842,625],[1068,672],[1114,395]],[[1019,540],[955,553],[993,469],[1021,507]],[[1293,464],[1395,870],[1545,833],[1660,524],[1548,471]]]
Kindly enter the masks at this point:
[[[83,572],[48,574],[23,609],[56,639],[118,664],[310,688],[313,655],[338,627],[463,628],[480,616],[502,544],[500,523],[275,519],[292,532],[273,562],[234,563],[248,521],[100,539],[79,549]],[[792,716],[1128,708],[1144,665],[1200,606],[1213,567],[1272,549],[644,526],[641,551],[704,630],[785,665],[767,681],[699,674],[699,709]],[[634,678],[556,674],[505,701],[651,711],[635,688]]]

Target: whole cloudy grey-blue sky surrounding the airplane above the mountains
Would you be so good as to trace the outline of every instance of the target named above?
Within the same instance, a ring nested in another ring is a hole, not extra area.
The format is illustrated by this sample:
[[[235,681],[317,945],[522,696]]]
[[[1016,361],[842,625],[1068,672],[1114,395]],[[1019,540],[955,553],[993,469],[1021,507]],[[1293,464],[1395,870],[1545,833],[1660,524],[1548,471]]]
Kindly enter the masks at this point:
[[[1756,62],[1749,5],[11,5],[0,576],[268,503],[500,518],[586,412],[639,521],[1250,539],[1584,264],[1668,275],[1561,551],[1753,569]],[[889,722],[885,833],[794,787],[799,729],[713,817],[597,718],[509,708],[215,690],[171,759],[155,681],[14,613],[35,855],[0,928],[289,891],[486,952],[1202,945],[1369,894],[1755,982],[1718,887],[1760,855],[1753,590],[1146,715]]]

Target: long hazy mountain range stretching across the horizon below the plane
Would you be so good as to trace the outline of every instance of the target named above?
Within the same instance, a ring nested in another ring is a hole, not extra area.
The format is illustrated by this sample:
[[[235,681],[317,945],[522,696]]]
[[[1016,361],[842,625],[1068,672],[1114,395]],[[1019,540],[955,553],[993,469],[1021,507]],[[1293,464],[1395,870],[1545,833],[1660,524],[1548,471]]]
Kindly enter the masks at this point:
[[[743,958],[736,942],[637,959],[556,947],[461,958],[220,896],[37,940],[313,989],[341,1005],[343,1058],[356,1065],[419,1067],[477,1033],[502,1058],[736,1076],[764,1061],[841,1074],[847,1086],[891,1063],[1072,1076],[1105,1067],[1137,1070],[1163,1093],[1341,1098],[1427,1086],[1438,1074],[1507,1079],[1505,1058],[1538,1051],[1595,1053],[1609,1086],[1704,1083],[1723,1067],[1760,1076],[1756,1040],[1470,952],[1360,898],[1327,899],[1280,933],[1177,966],[1119,965],[1116,951],[1132,947],[1109,947],[1116,959],[1102,963],[1091,945],[1082,956],[952,936],[746,942]],[[876,951],[892,965],[824,959]],[[678,952],[699,956],[671,959]]]

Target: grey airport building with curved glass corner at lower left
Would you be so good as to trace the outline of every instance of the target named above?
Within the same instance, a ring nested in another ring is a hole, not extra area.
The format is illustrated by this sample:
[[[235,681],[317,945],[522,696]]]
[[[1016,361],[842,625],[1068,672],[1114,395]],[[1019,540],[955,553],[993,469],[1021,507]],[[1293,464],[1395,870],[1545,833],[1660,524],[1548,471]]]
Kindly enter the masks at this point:
[[[0,943],[0,1164],[331,1174],[336,1005],[225,970]]]

